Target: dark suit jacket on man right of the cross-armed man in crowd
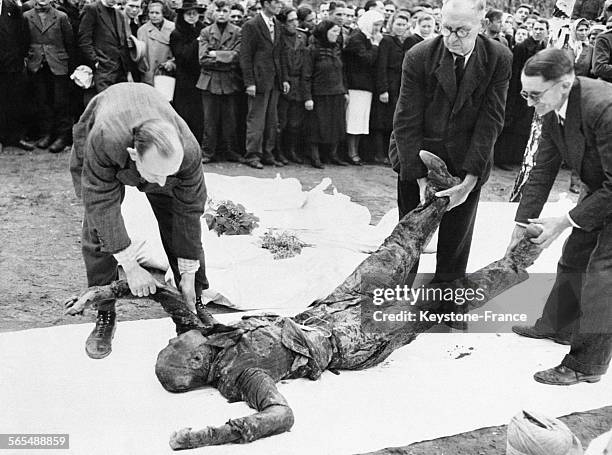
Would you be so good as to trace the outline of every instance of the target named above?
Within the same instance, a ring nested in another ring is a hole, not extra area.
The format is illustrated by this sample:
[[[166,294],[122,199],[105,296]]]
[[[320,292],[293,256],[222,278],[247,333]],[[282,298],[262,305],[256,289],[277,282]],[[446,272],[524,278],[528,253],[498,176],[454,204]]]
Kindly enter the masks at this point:
[[[244,85],[256,86],[257,93],[272,90],[275,83],[280,90],[282,83],[289,81],[281,27],[276,19],[274,19],[274,42],[261,14],[256,14],[243,25],[240,68]]]

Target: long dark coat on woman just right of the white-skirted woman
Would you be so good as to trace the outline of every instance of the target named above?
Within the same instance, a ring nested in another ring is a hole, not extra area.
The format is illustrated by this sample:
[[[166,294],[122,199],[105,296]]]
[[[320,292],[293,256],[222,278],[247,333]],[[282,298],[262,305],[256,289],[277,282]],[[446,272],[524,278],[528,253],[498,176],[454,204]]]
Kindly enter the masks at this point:
[[[370,115],[372,129],[381,131],[393,129],[393,114],[402,83],[403,61],[404,43],[396,36],[383,36],[376,61],[376,92]],[[389,102],[381,103],[378,96],[385,92],[389,94]]]

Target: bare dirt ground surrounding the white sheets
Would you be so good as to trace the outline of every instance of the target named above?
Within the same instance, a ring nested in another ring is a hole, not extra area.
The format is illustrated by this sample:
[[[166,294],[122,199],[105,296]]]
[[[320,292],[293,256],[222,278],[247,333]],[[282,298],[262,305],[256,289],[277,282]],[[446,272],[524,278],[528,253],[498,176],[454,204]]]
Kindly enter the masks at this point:
[[[396,178],[388,167],[327,166],[325,170],[317,170],[307,165],[292,165],[258,171],[241,164],[214,163],[205,170],[268,178],[278,173],[282,177],[298,178],[306,190],[323,177],[330,177],[338,191],[368,207],[373,223],[396,206]],[[514,172],[495,169],[482,200],[507,201],[514,177]],[[558,199],[559,193],[567,192],[568,188],[569,173],[562,171],[550,199]],[[93,312],[64,316],[62,307],[67,297],[86,286],[80,252],[82,212],[72,188],[68,153],[52,155],[7,148],[0,155],[0,332],[93,320]],[[161,307],[148,300],[120,301],[117,311],[119,320],[123,321],[166,317]],[[597,421],[602,421],[600,414],[607,419],[607,427],[604,425],[601,429],[609,428],[612,410],[599,410],[596,414]],[[576,428],[581,428],[581,419],[584,428],[592,427],[589,422],[594,417],[585,413],[578,418]],[[387,453],[503,453],[502,432],[483,429],[423,443],[422,449]],[[467,449],[456,451],[454,448],[461,444],[467,444]]]

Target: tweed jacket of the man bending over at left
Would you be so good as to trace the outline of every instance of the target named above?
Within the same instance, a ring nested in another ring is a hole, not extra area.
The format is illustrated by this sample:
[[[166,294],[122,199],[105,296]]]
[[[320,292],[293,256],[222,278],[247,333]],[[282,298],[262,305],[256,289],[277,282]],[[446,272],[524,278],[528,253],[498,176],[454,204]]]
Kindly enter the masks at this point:
[[[184,150],[178,172],[163,187],[143,180],[127,152],[134,145],[133,128],[151,119],[170,122]],[[200,217],[206,202],[200,145],[156,89],[128,82],[107,88],[87,105],[73,136],[72,181],[83,200],[89,227],[97,231],[102,253],[114,254],[130,245],[121,216],[124,186],[129,185],[173,199],[172,244],[168,247],[177,257],[199,259]]]

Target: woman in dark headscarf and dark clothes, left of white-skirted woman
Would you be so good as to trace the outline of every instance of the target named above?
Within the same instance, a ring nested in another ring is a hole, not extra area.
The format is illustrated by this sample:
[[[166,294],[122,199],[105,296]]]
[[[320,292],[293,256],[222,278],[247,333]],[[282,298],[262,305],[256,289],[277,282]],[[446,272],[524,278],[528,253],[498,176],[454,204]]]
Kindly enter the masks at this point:
[[[337,43],[340,26],[324,20],[313,31],[313,43],[308,48],[302,72],[306,138],[312,165],[323,169],[319,147],[329,149],[329,161],[343,165],[338,158],[338,143],[346,132],[346,87],[340,46]]]

